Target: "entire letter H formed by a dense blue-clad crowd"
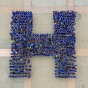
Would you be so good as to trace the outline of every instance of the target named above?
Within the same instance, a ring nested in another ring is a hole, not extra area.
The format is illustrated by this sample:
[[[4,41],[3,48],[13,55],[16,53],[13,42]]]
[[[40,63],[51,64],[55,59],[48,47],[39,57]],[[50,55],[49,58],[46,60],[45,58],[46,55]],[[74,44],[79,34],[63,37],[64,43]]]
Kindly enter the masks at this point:
[[[32,12],[13,12],[10,77],[30,78],[30,58],[38,55],[54,57],[55,77],[75,78],[75,18],[74,11],[54,11],[54,33],[33,34]]]

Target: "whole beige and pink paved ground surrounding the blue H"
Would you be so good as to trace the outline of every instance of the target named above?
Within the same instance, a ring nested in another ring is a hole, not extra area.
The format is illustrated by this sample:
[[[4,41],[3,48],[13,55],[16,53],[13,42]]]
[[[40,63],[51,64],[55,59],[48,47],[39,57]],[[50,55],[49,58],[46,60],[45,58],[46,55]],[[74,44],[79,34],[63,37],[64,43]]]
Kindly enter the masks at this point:
[[[77,78],[73,86],[71,79],[54,77],[54,58],[33,57],[32,77],[10,79],[9,59],[5,52],[0,54],[0,88],[87,88],[88,87],[88,0],[0,0],[0,50],[10,49],[11,12],[24,10],[33,12],[34,33],[53,33],[52,13],[54,10],[75,10]],[[84,51],[83,51],[84,50]],[[86,51],[85,51],[86,50]],[[5,50],[4,50],[5,51]],[[78,52],[79,51],[79,52]],[[81,51],[81,53],[80,53]],[[2,51],[0,51],[1,53]],[[28,86],[26,83],[28,82]]]

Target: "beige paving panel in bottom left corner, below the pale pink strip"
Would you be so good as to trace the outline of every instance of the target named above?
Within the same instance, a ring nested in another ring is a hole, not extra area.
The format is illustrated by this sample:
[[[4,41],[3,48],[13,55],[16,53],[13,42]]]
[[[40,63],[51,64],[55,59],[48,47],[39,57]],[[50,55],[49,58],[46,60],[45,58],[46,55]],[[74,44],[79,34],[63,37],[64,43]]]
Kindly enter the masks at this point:
[[[0,88],[23,88],[23,79],[9,78],[10,57],[0,57]]]

